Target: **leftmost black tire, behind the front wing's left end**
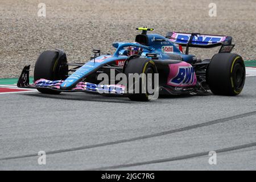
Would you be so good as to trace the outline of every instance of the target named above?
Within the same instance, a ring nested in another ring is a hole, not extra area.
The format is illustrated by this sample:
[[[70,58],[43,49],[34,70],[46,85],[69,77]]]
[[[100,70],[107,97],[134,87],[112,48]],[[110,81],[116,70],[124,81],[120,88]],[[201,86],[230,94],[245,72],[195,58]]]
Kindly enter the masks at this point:
[[[60,55],[61,54],[61,55]],[[64,80],[68,75],[67,57],[64,52],[44,51],[38,57],[34,70],[34,81],[44,78],[46,80]],[[41,93],[59,94],[60,91],[47,88],[38,88]]]

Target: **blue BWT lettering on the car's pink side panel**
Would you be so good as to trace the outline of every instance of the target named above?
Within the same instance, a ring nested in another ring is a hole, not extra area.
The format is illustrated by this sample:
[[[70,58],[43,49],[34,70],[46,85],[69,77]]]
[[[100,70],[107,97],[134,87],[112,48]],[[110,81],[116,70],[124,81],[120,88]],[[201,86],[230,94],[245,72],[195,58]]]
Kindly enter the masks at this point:
[[[172,78],[169,83],[172,85],[189,86],[192,85],[195,78],[195,70],[193,67],[179,67],[177,75]]]

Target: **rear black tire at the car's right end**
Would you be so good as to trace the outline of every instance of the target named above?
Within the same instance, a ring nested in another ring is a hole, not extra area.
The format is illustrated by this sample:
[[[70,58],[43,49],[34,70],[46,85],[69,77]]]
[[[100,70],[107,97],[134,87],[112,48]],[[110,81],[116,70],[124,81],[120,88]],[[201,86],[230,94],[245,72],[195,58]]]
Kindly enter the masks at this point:
[[[240,94],[245,84],[245,64],[235,53],[217,53],[210,60],[207,82],[212,93],[224,96]]]

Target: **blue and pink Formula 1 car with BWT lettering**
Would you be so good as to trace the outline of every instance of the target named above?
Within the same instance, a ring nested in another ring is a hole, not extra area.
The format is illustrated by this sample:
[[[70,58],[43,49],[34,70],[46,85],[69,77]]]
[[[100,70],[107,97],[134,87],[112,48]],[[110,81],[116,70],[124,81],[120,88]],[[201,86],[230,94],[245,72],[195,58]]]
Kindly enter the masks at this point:
[[[134,84],[118,84],[122,79],[117,75],[123,73],[128,78],[131,73],[144,73],[146,77],[150,73],[158,73],[159,94],[197,94],[208,93],[208,90],[226,96],[241,93],[245,83],[245,65],[240,55],[230,53],[234,47],[232,37],[181,32],[168,32],[162,36],[147,34],[153,28],[140,27],[137,30],[142,33],[136,36],[135,43],[113,43],[116,48],[113,55],[93,49],[94,56],[86,63],[68,63],[65,52],[60,49],[44,51],[35,64],[34,83],[29,84],[28,65],[23,68],[17,85],[47,94],[92,92],[147,101],[152,93],[147,89],[146,92],[140,89],[137,93],[127,93],[126,88]],[[189,47],[217,46],[221,47],[220,51],[211,59],[201,60],[189,55]],[[109,82],[101,84],[98,77],[102,73],[110,76]],[[145,84],[142,78],[139,79],[141,87]],[[153,80],[151,77],[151,82],[146,84],[154,86]]]

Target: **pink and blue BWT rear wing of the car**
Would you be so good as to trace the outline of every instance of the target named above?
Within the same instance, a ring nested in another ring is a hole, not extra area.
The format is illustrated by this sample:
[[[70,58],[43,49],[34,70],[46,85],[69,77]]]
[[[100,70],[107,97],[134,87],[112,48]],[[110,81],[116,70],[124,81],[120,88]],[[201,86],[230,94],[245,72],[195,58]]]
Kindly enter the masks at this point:
[[[212,48],[221,46],[219,52],[231,52],[234,47],[232,37],[225,35],[167,32],[166,38],[175,44],[186,46],[186,54],[188,54],[188,47]]]

